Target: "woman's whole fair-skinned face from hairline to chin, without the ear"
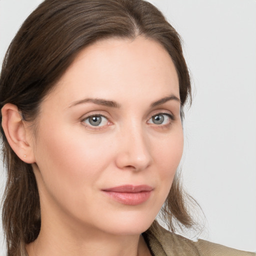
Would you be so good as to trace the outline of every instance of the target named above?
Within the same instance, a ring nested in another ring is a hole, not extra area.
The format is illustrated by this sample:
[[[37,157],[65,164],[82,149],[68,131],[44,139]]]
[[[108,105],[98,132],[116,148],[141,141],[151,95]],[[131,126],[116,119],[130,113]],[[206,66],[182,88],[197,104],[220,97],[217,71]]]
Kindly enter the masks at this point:
[[[183,148],[177,73],[160,44],[139,36],[86,47],[36,122],[42,227],[49,219],[115,234],[149,227]]]

